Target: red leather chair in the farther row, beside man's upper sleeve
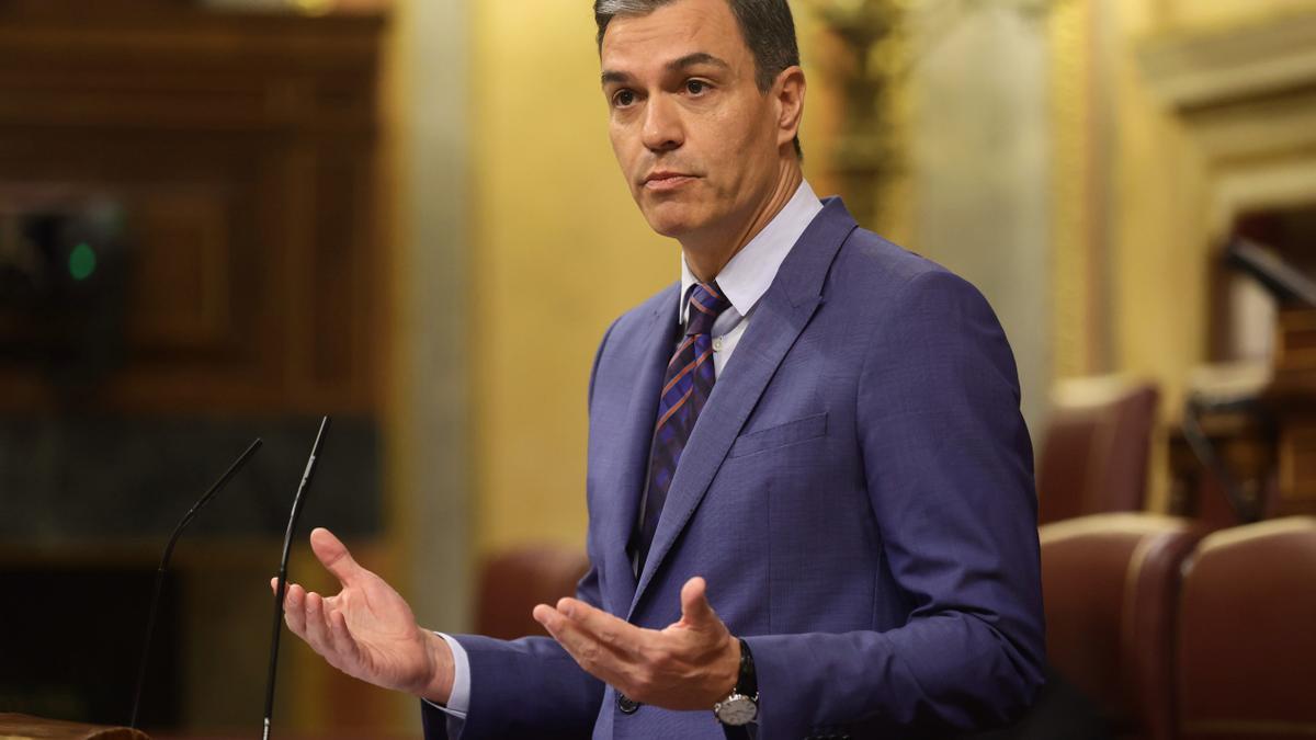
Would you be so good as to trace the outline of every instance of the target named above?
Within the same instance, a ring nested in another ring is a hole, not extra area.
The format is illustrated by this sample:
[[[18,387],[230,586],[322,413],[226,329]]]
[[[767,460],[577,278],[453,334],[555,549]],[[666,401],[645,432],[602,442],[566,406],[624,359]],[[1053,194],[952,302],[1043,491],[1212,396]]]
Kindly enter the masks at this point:
[[[1115,377],[1057,386],[1037,461],[1038,521],[1144,508],[1158,398],[1154,384]]]

